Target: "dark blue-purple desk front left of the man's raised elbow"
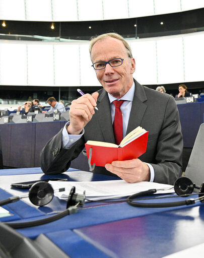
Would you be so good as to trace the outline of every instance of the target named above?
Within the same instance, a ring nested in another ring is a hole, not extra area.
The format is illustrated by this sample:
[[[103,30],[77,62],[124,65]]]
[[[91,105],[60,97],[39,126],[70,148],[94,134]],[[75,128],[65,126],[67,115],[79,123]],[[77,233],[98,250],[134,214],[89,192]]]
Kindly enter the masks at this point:
[[[40,151],[65,122],[0,124],[4,166],[39,167]]]

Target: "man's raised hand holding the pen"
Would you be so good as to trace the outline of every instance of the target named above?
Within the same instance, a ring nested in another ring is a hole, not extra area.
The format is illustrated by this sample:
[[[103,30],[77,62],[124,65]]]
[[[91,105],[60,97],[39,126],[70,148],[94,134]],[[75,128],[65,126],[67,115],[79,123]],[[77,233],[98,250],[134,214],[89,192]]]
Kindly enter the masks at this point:
[[[67,132],[72,135],[79,135],[85,125],[91,120],[95,113],[94,107],[98,98],[98,92],[92,95],[85,94],[82,97],[73,100],[70,106],[70,125]]]

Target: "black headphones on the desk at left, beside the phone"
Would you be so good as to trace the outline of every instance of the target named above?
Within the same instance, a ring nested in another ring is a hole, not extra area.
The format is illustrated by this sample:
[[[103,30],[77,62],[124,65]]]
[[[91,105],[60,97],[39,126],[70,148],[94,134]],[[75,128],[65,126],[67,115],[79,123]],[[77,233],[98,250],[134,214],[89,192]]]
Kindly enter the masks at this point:
[[[58,191],[64,191],[65,188],[59,188]],[[34,183],[31,188],[29,189],[29,194],[26,196],[18,197],[14,196],[11,198],[8,198],[6,200],[0,201],[0,206],[14,203],[19,201],[22,198],[29,197],[29,200],[32,204],[37,206],[44,206],[51,202],[54,196],[54,190],[48,182],[45,181],[39,181]],[[34,227],[39,226],[42,224],[46,224],[49,222],[53,222],[55,220],[61,219],[66,215],[70,215],[77,212],[77,207],[83,207],[85,202],[85,192],[83,195],[80,195],[79,193],[75,193],[75,186],[72,187],[70,191],[70,195],[66,204],[66,210],[55,214],[53,216],[34,220],[34,221],[28,221],[28,222],[8,222],[5,223],[9,225],[12,228],[26,228],[26,227]]]

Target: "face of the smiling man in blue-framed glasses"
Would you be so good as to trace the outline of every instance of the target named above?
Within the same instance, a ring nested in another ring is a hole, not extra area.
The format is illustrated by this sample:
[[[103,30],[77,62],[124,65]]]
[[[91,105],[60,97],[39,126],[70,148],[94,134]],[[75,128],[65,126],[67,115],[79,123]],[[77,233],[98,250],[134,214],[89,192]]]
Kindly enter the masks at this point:
[[[122,41],[112,37],[97,41],[91,51],[93,63],[126,57],[128,55]],[[107,63],[105,69],[95,70],[97,79],[103,88],[116,98],[121,98],[131,88],[134,71],[134,58],[125,59],[119,67],[111,67]]]

